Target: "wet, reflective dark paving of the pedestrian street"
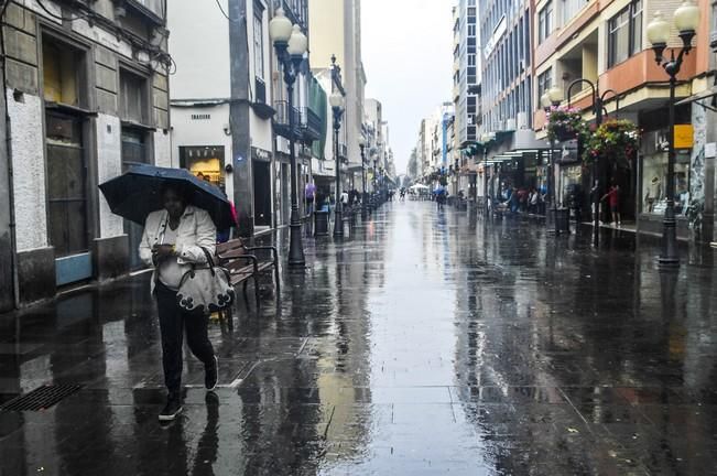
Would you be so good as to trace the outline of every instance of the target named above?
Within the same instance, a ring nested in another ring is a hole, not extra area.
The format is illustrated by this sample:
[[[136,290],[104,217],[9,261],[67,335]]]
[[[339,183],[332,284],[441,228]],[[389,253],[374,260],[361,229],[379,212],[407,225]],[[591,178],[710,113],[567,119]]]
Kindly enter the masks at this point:
[[[0,402],[83,386],[0,411],[0,476],[717,474],[713,250],[660,273],[629,232],[430,203],[354,231],[211,326],[220,386],[186,357],[169,425],[146,274],[0,316]]]

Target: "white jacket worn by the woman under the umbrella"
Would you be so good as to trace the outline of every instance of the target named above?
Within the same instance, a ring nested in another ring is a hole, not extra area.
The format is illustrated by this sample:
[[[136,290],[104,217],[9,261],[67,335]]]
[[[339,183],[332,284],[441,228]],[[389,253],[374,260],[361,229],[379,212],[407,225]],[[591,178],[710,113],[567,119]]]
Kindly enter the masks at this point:
[[[146,266],[154,266],[152,262],[152,247],[162,245],[164,228],[169,223],[169,213],[164,209],[152,212],[144,223],[144,232],[140,242],[140,259]],[[217,228],[209,214],[202,208],[187,205],[180,220],[176,238],[177,263],[180,264],[203,264],[207,262],[207,257],[202,248],[214,256],[217,245]],[[152,273],[152,288],[154,293],[154,283],[156,270]]]

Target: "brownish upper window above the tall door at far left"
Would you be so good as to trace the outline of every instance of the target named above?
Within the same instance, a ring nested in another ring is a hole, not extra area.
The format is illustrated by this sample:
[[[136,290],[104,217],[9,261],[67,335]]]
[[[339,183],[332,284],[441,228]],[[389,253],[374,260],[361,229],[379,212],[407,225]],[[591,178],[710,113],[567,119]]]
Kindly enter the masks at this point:
[[[68,106],[85,106],[85,53],[44,36],[42,43],[43,93],[46,101]]]

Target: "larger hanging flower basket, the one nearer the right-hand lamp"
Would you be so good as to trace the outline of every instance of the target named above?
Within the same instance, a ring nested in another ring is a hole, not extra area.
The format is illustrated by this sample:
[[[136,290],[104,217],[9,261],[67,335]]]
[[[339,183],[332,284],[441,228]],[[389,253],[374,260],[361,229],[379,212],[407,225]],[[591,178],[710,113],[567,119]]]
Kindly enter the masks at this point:
[[[583,160],[591,163],[601,156],[610,164],[630,169],[631,161],[639,149],[638,127],[627,119],[611,119],[588,136]]]

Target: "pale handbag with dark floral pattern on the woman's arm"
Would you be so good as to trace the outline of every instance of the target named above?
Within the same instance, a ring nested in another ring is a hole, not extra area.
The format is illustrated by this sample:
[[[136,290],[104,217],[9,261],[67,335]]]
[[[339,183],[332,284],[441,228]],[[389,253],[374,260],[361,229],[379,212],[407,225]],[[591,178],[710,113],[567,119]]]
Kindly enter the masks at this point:
[[[215,266],[209,251],[202,248],[207,257],[206,264],[194,264],[184,273],[177,291],[177,303],[187,313],[209,314],[224,311],[235,301],[229,271]]]

